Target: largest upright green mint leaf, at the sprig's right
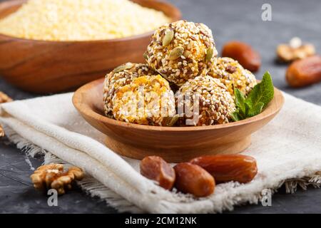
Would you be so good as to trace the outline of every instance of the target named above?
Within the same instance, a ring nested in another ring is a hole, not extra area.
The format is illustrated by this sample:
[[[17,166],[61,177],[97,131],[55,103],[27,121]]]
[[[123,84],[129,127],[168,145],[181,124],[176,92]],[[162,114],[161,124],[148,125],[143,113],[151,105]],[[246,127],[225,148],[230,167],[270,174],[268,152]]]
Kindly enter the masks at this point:
[[[274,87],[270,73],[267,71],[263,75],[263,79],[258,83],[248,94],[247,101],[252,107],[259,107],[259,103],[262,102],[263,108],[273,99]]]

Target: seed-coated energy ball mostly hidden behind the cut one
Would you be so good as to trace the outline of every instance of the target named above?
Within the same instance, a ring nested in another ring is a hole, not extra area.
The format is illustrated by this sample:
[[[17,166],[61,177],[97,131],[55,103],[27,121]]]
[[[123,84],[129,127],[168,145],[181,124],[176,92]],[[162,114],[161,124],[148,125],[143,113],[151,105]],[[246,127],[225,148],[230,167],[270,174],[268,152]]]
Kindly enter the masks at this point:
[[[105,114],[107,116],[112,116],[112,99],[113,95],[115,95],[115,92],[119,88],[128,85],[133,81],[134,78],[138,78],[139,76],[152,76],[155,74],[155,71],[153,71],[147,64],[141,63],[125,63],[113,69],[111,73],[108,73],[103,85]]]

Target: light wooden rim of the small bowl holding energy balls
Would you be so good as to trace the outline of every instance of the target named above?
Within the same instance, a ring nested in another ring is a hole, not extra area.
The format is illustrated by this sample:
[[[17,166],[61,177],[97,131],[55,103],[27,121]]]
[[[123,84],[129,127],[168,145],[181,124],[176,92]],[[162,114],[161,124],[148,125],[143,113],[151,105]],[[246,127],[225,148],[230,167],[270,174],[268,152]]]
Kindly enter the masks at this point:
[[[265,118],[269,118],[272,115],[275,115],[276,113],[278,113],[284,102],[284,96],[282,95],[282,91],[278,90],[277,88],[274,88],[275,93],[274,93],[274,97],[273,100],[276,98],[276,96],[278,96],[280,98],[279,100],[279,105],[277,106],[277,108],[275,108],[274,111],[272,112],[268,112],[269,108],[271,108],[270,104],[267,105],[267,108],[265,108],[265,110],[263,110],[262,113],[255,115],[251,118],[247,118],[245,120],[240,120],[237,122],[233,122],[233,123],[224,123],[224,124],[220,124],[220,125],[207,125],[207,126],[190,126],[190,127],[165,127],[165,126],[151,126],[151,125],[140,125],[140,124],[136,124],[136,123],[126,123],[120,120],[113,120],[111,118],[106,117],[105,115],[101,115],[99,113],[96,113],[95,111],[93,111],[88,104],[85,103],[81,103],[81,95],[83,93],[88,93],[88,88],[92,88],[94,86],[98,86],[99,84],[103,83],[104,78],[99,78],[95,81],[91,81],[90,83],[87,83],[84,86],[81,86],[81,88],[78,88],[74,93],[73,93],[73,105],[76,108],[76,110],[78,110],[79,113],[81,113],[81,115],[86,115],[88,117],[94,118],[96,121],[98,122],[103,122],[106,123],[108,125],[116,125],[116,126],[121,126],[123,128],[128,128],[128,129],[132,129],[132,128],[136,128],[137,130],[152,130],[152,131],[168,131],[168,132],[190,132],[190,131],[204,131],[204,130],[219,130],[219,129],[226,129],[226,128],[233,128],[236,126],[240,126],[240,125],[246,125],[248,123],[253,123],[259,120],[263,120]],[[101,91],[103,93],[103,91]],[[101,98],[103,100],[103,98]]]

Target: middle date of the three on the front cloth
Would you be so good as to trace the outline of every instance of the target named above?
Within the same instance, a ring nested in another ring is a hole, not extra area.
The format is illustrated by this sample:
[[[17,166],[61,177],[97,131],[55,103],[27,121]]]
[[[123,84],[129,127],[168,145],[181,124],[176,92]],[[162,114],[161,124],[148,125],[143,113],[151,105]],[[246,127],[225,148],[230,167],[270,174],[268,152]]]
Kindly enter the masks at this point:
[[[174,167],[176,173],[175,187],[195,197],[207,197],[214,192],[215,180],[202,167],[189,162],[179,163]]]

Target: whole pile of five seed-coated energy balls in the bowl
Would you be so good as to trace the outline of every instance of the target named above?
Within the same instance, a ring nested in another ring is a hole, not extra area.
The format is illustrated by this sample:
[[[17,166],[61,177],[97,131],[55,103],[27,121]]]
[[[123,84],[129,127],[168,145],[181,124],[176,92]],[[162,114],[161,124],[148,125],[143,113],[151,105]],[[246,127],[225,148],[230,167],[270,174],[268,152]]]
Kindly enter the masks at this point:
[[[144,54],[147,64],[126,63],[106,76],[106,115],[157,126],[229,123],[234,88],[247,94],[256,79],[238,61],[217,55],[208,26],[188,21],[161,26]]]

